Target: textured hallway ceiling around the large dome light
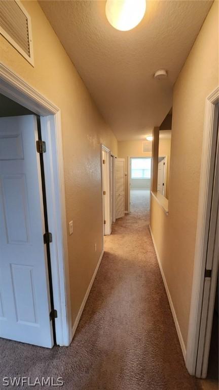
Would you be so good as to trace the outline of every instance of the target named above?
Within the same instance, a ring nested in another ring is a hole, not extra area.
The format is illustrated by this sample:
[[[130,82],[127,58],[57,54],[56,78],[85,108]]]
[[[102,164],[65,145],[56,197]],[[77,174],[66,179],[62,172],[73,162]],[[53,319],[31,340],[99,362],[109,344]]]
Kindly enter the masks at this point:
[[[105,1],[40,1],[99,111],[118,140],[143,138],[172,105],[172,87],[211,1],[147,1],[140,24],[118,31]],[[167,80],[153,78],[167,69]]]

